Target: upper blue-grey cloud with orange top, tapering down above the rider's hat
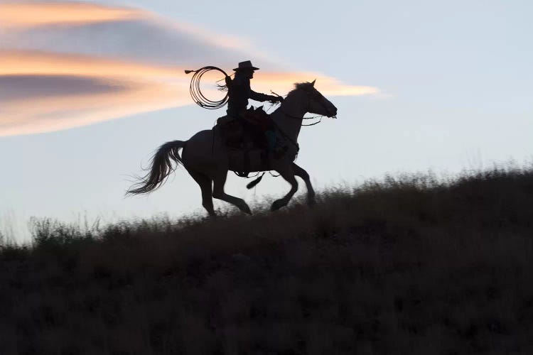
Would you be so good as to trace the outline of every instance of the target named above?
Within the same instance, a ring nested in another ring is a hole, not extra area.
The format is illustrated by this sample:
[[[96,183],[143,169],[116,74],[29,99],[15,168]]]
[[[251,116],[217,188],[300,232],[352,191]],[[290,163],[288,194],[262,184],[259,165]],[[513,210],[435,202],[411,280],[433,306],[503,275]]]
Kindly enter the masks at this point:
[[[48,5],[62,9],[64,13],[75,13],[75,16],[61,22],[65,16],[58,16],[54,11],[42,11]],[[83,18],[84,12],[78,8],[83,9],[86,5],[90,9],[87,9],[87,18]],[[73,9],[70,9],[71,6]],[[127,58],[165,65],[198,65],[212,58],[217,58],[219,65],[235,65],[243,56],[247,58],[251,52],[256,52],[244,40],[208,33],[192,24],[170,22],[149,11],[119,8],[118,13],[124,15],[115,16],[114,9],[109,6],[99,9],[94,4],[82,3],[60,3],[60,6],[54,3],[23,3],[21,6],[11,4],[10,8],[12,12],[36,15],[30,15],[26,20],[23,18],[23,21],[14,20],[19,21],[16,31],[10,31],[7,22],[6,31],[0,31],[0,48]],[[3,11],[0,4],[0,13]],[[39,13],[41,11],[42,14]],[[92,12],[97,12],[99,16]],[[1,22],[2,16],[8,17],[0,15],[0,28],[5,27]],[[16,18],[14,14],[12,16]],[[33,17],[35,21],[32,22]],[[257,55],[254,58],[257,60]],[[262,59],[265,65],[276,66],[274,62]]]

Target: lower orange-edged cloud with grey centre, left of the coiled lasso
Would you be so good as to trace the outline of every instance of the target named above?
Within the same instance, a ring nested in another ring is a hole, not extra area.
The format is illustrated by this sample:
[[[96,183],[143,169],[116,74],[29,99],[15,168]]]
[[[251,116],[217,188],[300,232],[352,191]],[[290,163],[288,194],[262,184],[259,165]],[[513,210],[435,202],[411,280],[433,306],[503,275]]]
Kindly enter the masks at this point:
[[[0,51],[0,136],[69,129],[188,104],[176,67]],[[175,80],[169,80],[173,78]]]

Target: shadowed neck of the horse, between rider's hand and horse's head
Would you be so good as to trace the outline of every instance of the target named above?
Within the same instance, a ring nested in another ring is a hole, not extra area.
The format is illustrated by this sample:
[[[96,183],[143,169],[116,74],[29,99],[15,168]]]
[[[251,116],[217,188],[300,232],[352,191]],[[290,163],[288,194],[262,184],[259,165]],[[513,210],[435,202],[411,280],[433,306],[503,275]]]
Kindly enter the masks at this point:
[[[298,100],[298,97],[294,95],[287,97],[281,106],[271,114],[271,117],[284,134],[296,141],[304,114],[306,114],[306,109],[301,104],[301,100]]]

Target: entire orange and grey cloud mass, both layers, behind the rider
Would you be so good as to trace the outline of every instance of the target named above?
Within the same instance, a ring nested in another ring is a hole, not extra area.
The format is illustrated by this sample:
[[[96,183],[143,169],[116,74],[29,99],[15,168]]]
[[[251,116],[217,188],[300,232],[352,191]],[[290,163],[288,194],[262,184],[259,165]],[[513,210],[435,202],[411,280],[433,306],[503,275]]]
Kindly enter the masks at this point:
[[[184,69],[213,62],[231,68],[250,58],[267,68],[254,78],[257,91],[284,94],[294,82],[316,78],[316,87],[329,96],[379,92],[320,73],[288,70],[245,40],[173,23],[149,11],[67,1],[4,3],[0,136],[193,104]]]

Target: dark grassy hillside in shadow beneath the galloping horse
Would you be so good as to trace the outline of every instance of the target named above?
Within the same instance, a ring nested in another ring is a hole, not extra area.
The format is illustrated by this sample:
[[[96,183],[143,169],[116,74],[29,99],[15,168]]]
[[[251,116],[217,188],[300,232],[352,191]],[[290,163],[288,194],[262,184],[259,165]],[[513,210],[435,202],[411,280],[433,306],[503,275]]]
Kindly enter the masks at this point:
[[[533,171],[0,251],[0,354],[533,354]]]

